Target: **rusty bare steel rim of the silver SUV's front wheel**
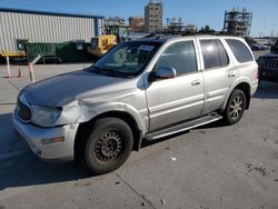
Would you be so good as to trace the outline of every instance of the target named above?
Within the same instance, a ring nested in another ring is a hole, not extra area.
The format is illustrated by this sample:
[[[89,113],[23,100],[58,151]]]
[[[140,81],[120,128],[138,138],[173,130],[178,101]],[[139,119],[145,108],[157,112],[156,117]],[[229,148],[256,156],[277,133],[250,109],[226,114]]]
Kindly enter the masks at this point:
[[[99,160],[115,160],[122,150],[122,138],[117,132],[107,132],[97,141],[95,152]]]

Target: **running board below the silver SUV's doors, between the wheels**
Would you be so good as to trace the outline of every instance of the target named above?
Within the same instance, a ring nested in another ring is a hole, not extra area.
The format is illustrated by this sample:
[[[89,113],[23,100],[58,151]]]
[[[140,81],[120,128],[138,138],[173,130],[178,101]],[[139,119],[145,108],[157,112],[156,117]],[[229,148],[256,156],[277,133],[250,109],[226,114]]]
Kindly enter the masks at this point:
[[[220,120],[220,119],[222,119],[222,116],[220,116],[220,115],[216,115],[216,113],[215,115],[208,115],[208,116],[205,116],[205,117],[201,117],[201,118],[198,118],[198,119],[195,119],[195,120],[190,120],[190,121],[187,121],[185,123],[180,123],[180,125],[167,128],[167,129],[150,132],[145,138],[147,140],[156,140],[156,139],[159,139],[159,138],[162,138],[162,137],[168,137],[168,136],[171,136],[171,135],[175,135],[175,133],[179,133],[179,132],[182,132],[182,131],[186,131],[186,130],[190,130],[190,129],[193,129],[193,128],[197,128],[197,127],[201,127],[203,125],[208,125],[210,122],[215,122],[215,121]]]

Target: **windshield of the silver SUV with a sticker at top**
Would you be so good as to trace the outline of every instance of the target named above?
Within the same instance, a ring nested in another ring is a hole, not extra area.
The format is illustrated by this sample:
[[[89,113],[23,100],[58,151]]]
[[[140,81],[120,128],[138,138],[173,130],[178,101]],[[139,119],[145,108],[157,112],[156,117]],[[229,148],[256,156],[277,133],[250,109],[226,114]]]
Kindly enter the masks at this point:
[[[122,42],[95,63],[95,70],[97,69],[97,73],[109,72],[107,76],[137,76],[160,46],[159,42]]]

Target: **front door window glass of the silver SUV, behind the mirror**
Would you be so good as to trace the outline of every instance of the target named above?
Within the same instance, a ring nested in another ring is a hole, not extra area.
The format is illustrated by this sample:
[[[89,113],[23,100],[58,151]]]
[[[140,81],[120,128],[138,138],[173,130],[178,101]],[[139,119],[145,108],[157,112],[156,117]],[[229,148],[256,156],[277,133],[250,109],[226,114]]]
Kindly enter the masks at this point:
[[[172,43],[161,53],[157,67],[172,67],[177,76],[198,71],[193,41]]]

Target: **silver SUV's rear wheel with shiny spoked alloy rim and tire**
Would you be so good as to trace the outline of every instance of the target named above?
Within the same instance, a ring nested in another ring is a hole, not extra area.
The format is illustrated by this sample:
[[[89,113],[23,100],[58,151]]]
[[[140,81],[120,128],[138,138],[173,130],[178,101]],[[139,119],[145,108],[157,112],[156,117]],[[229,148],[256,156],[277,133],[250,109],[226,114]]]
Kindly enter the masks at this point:
[[[245,113],[246,109],[246,96],[240,89],[235,89],[227,102],[224,120],[227,125],[237,123]]]

